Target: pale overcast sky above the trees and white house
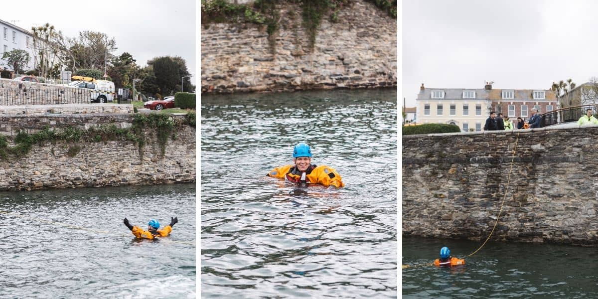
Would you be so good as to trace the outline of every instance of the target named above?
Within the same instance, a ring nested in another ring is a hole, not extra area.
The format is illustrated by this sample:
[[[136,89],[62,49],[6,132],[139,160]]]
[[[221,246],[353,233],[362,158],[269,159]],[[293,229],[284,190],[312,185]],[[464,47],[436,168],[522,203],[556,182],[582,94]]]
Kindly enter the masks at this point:
[[[66,36],[83,30],[106,33],[116,40],[112,54],[129,52],[138,65],[156,56],[181,56],[196,84],[194,0],[2,1],[0,7],[1,20],[16,20],[27,30],[50,23]]]

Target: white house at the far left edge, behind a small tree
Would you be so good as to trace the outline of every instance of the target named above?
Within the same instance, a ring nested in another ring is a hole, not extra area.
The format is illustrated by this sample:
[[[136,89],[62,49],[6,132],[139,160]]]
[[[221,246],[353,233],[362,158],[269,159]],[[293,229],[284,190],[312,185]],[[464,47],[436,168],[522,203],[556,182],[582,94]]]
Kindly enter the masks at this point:
[[[33,34],[19,26],[0,20],[0,69],[6,68],[13,71],[13,67],[8,65],[2,56],[5,52],[14,49],[25,50],[29,53],[30,59],[25,69],[28,71],[33,69]]]

